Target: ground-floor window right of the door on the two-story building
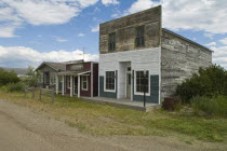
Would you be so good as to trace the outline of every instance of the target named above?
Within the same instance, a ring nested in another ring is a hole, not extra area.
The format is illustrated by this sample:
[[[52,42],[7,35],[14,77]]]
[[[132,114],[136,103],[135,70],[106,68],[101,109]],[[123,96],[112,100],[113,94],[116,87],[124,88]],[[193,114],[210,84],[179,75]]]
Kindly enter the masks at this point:
[[[144,71],[136,71],[136,92],[137,93],[148,93],[148,71],[146,71],[146,74],[144,76]]]

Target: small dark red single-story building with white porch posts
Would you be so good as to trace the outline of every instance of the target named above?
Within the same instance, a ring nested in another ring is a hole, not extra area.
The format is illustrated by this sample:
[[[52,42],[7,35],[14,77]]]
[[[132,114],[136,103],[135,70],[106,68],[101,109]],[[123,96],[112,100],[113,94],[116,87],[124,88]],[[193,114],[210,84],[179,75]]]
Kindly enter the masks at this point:
[[[56,94],[94,97],[98,95],[98,63],[68,61],[66,70],[57,72]]]

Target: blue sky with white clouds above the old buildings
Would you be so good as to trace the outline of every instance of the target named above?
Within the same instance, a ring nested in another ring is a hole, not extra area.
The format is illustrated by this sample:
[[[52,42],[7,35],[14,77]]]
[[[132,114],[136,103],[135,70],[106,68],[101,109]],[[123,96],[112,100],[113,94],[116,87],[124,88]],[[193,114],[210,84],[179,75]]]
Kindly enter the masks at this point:
[[[227,68],[226,0],[1,0],[0,67],[98,60],[98,25],[162,4],[163,27],[214,51]]]

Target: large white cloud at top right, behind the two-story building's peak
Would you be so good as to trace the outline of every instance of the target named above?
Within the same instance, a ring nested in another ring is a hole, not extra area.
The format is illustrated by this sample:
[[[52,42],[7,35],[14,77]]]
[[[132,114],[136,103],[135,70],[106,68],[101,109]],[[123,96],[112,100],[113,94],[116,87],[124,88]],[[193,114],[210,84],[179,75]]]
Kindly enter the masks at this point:
[[[163,8],[163,27],[165,28],[227,33],[226,0],[161,0],[161,2],[137,0],[122,14],[136,13],[159,4]]]

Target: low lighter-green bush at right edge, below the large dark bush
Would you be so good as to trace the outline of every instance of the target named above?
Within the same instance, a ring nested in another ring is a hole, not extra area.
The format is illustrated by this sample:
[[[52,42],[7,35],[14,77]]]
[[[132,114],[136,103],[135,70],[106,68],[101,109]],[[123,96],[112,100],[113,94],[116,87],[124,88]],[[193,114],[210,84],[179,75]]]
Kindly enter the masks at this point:
[[[208,116],[219,115],[227,118],[227,97],[218,96],[215,98],[195,97],[191,99],[191,107],[197,114],[205,114]]]

